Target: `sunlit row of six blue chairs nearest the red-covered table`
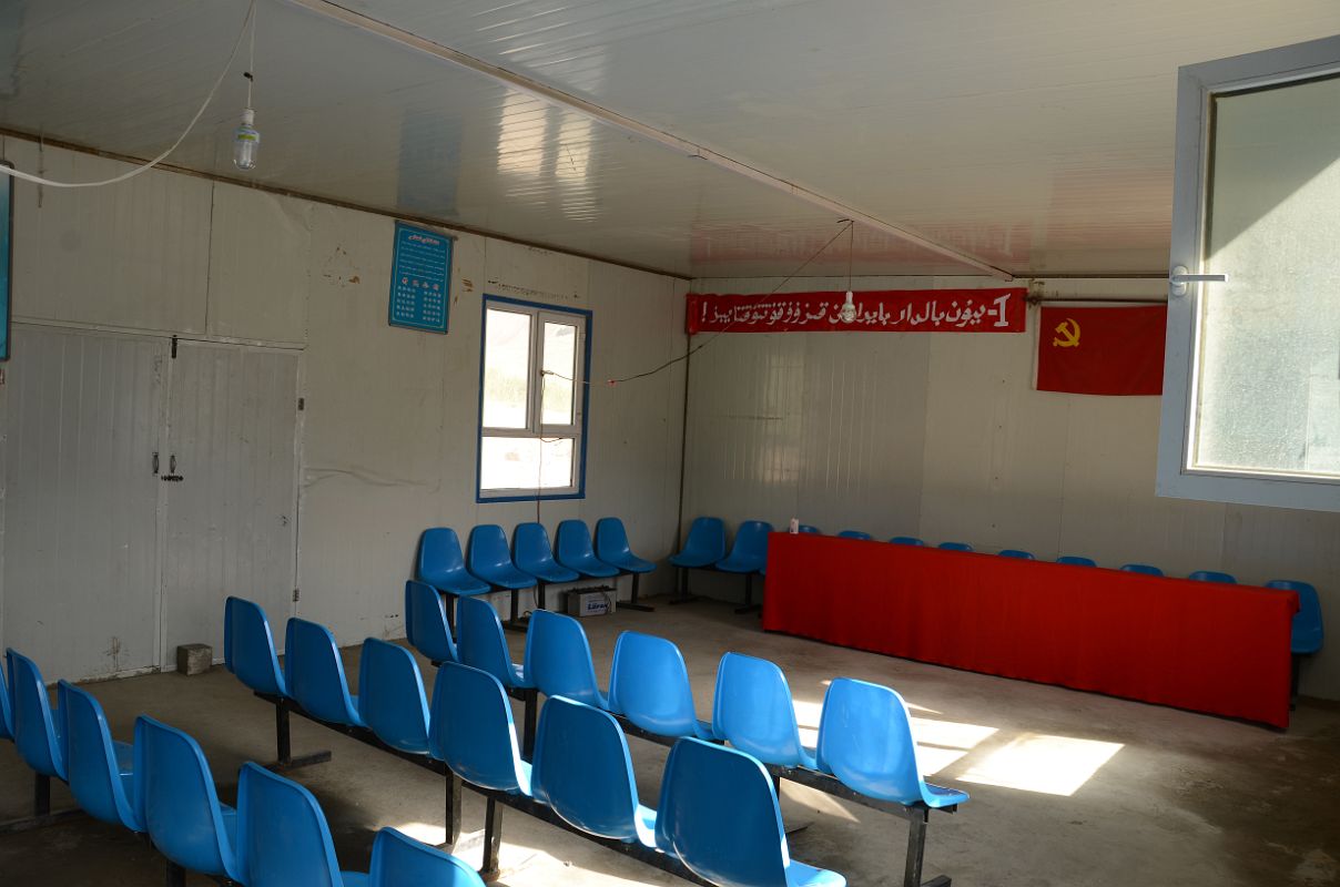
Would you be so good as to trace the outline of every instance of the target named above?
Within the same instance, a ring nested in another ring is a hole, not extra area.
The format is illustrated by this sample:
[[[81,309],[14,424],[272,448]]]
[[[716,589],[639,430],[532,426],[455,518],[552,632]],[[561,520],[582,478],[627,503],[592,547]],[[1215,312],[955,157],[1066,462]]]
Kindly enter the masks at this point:
[[[431,590],[411,582],[406,583],[405,596],[406,612],[414,614],[410,643],[433,662],[460,662],[492,674],[509,689],[537,689],[548,698],[576,699],[620,715],[653,736],[730,742],[764,764],[836,776],[867,797],[904,805],[923,803],[931,808],[967,800],[963,792],[921,778],[907,707],[888,687],[846,678],[835,681],[824,698],[819,748],[809,749],[800,742],[787,678],[765,659],[738,653],[722,657],[713,717],[706,722],[694,710],[683,655],[665,638],[622,632],[615,642],[610,689],[604,693],[586,631],[571,616],[536,612],[527,630],[524,662],[515,663],[497,614],[488,604],[461,602],[460,636],[453,643]],[[363,655],[366,663],[366,644]],[[360,689],[366,686],[364,678],[367,674],[360,674]],[[825,724],[831,725],[827,730]],[[827,756],[821,752],[825,736]]]

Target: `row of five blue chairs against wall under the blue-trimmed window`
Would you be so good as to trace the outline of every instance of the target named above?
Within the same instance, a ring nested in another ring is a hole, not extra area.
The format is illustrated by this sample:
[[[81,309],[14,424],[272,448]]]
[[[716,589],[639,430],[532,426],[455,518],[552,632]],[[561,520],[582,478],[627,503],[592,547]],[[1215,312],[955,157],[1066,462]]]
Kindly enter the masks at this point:
[[[596,521],[594,544],[586,521],[561,521],[557,543],[555,549],[544,525],[528,521],[516,525],[508,548],[501,527],[480,524],[470,531],[462,552],[454,529],[434,527],[419,539],[418,579],[450,598],[537,587],[536,604],[543,610],[545,586],[624,575],[634,579],[630,603],[636,604],[638,577],[655,569],[654,563],[632,553],[627,529],[618,517]],[[517,620],[516,607],[512,595],[512,622]],[[453,618],[450,611],[448,618]]]

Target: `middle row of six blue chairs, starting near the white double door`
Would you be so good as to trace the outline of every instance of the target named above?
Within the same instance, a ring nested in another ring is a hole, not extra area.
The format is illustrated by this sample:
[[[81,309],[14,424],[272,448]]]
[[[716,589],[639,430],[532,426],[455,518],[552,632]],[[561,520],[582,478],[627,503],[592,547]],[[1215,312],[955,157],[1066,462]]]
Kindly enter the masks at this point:
[[[460,608],[458,650],[472,649],[468,638],[485,614],[490,638],[507,650],[492,607],[462,599]],[[263,628],[264,612],[252,602],[230,598],[226,618],[234,644],[233,671],[252,689],[257,687],[247,675],[265,675],[264,686],[276,686],[273,679],[280,671],[273,649],[264,651],[271,636]],[[568,619],[537,611],[532,626],[548,618]],[[582,832],[673,855],[714,884],[846,883],[836,872],[791,859],[772,778],[744,752],[698,738],[682,740],[666,760],[659,804],[653,811],[638,797],[627,740],[608,711],[574,698],[548,699],[535,753],[527,761],[517,746],[507,687],[494,674],[445,661],[429,701],[413,654],[368,638],[363,642],[355,697],[348,693],[328,628],[293,618],[287,636],[287,690],[310,717],[366,728],[398,752],[444,761],[473,787],[533,799]],[[519,669],[508,667],[505,675],[516,681]]]

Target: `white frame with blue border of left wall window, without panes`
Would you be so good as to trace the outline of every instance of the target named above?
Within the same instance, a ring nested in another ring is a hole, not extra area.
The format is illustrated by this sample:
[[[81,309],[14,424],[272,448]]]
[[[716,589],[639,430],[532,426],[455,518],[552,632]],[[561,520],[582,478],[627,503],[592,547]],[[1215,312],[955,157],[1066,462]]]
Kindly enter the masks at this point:
[[[590,406],[590,386],[586,385],[591,364],[591,312],[584,308],[548,305],[539,301],[523,301],[504,296],[485,295],[480,327],[480,418],[476,438],[474,493],[477,502],[535,501],[537,498],[583,498],[586,496],[586,438],[587,409]],[[500,429],[484,425],[484,371],[485,350],[488,348],[489,311],[507,311],[531,318],[529,371],[527,386],[527,426],[524,429]],[[545,425],[543,422],[544,391],[544,324],[561,323],[578,328],[576,368],[572,377],[572,422]],[[484,438],[572,438],[572,482],[567,486],[545,488],[500,488],[484,489]]]

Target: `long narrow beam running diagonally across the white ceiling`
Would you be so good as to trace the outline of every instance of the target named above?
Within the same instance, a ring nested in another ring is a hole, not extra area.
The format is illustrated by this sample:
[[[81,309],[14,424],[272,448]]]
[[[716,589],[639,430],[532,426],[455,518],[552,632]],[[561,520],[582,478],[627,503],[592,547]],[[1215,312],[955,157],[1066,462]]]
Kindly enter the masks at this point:
[[[1010,275],[1010,272],[1005,271],[1004,268],[997,268],[996,265],[992,265],[990,263],[978,259],[977,256],[962,252],[959,249],[954,249],[953,247],[947,247],[942,243],[931,240],[930,237],[926,237],[925,234],[918,234],[914,230],[909,230],[892,222],[887,222],[882,218],[876,218],[874,216],[863,213],[859,209],[848,206],[831,197],[825,197],[824,194],[809,190],[803,185],[791,182],[785,178],[781,178],[780,176],[773,176],[772,173],[764,172],[756,166],[750,166],[749,163],[738,161],[733,157],[728,157],[726,154],[714,151],[710,147],[705,147],[695,142],[690,142],[689,139],[679,138],[678,135],[671,135],[670,133],[658,130],[654,126],[649,126],[631,117],[619,114],[618,111],[611,111],[607,107],[602,107],[599,105],[595,105],[594,102],[587,102],[586,99],[570,95],[568,92],[564,92],[561,90],[556,90],[552,86],[547,86],[537,80],[532,80],[527,76],[516,74],[513,71],[508,71],[507,68],[490,64],[488,62],[484,62],[482,59],[474,58],[473,55],[466,55],[465,52],[460,52],[450,47],[445,47],[441,43],[434,43],[433,40],[427,40],[415,33],[410,33],[409,31],[403,31],[385,21],[378,21],[377,19],[366,16],[360,12],[346,9],[344,7],[332,3],[331,0],[285,0],[285,1],[297,7],[303,7],[304,9],[310,9],[311,12],[315,12],[318,15],[326,16],[327,19],[332,19],[335,21],[358,28],[360,31],[374,33],[379,38],[385,38],[394,43],[399,43],[401,46],[407,47],[410,50],[425,52],[427,55],[431,55],[433,58],[441,59],[444,62],[465,68],[468,71],[473,71],[492,80],[496,80],[507,86],[508,88],[517,90],[519,92],[525,92],[527,95],[532,95],[543,102],[548,102],[549,105],[555,105],[564,110],[575,111],[578,114],[582,114],[583,117],[588,117],[592,121],[596,121],[598,123],[610,126],[630,135],[635,135],[641,139],[654,142],[685,157],[704,159],[712,163],[713,166],[717,166],[718,169],[724,169],[729,173],[734,173],[736,176],[741,176],[750,181],[758,182],[760,185],[765,185],[775,190],[791,194],[796,200],[809,204],[811,206],[817,206],[819,209],[831,212],[836,217],[851,218],[852,221],[859,222],[860,225],[864,225],[872,230],[883,232],[891,237],[913,244],[935,255],[943,256],[958,264],[966,265],[969,268],[976,268],[993,277],[1000,277],[1001,280],[1014,279],[1013,275]]]

